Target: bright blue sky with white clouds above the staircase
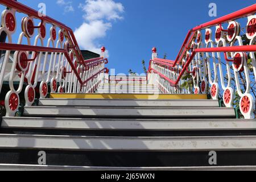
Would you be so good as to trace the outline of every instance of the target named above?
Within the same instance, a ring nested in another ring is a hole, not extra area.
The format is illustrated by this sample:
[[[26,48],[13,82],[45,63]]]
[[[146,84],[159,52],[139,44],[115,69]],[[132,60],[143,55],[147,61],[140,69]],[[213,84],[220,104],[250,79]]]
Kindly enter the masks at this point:
[[[175,59],[192,27],[253,5],[255,0],[19,0],[33,9],[43,2],[47,15],[76,31],[81,49],[105,46],[108,68],[142,73],[141,61],[148,61],[151,48],[159,57]],[[217,17],[208,15],[209,3],[216,3]],[[98,8],[96,8],[98,7]],[[97,12],[97,13],[96,13]]]

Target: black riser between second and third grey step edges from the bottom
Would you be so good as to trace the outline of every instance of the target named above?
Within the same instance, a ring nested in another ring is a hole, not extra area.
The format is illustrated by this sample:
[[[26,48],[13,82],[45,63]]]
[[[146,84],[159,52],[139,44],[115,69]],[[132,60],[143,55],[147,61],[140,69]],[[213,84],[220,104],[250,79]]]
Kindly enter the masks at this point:
[[[93,137],[233,137],[256,136],[256,130],[209,130],[209,131],[146,131],[146,130],[53,130],[53,129],[1,129],[2,134],[59,135]]]

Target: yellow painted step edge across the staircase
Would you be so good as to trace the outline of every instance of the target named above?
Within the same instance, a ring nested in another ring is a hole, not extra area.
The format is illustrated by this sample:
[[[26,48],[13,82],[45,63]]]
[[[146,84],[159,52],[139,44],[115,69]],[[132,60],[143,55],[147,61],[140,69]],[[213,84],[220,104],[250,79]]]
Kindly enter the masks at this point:
[[[73,94],[51,93],[50,98],[80,99],[141,99],[141,100],[200,100],[207,99],[207,94]]]

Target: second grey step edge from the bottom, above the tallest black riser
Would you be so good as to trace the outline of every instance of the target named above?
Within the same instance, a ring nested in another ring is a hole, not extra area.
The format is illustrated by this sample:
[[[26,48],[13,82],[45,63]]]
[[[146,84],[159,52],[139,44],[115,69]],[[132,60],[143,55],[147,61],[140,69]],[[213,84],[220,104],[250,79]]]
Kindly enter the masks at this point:
[[[0,148],[64,151],[256,151],[256,136],[71,137],[0,134]]]

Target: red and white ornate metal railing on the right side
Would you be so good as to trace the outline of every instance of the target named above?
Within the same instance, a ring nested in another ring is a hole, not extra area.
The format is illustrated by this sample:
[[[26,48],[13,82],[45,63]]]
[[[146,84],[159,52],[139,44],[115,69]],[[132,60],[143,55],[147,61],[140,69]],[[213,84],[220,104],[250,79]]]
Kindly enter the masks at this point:
[[[159,59],[153,48],[148,83],[162,93],[209,92],[213,100],[221,98],[226,107],[236,105],[243,117],[254,118],[255,13],[256,4],[192,28],[174,61]]]

